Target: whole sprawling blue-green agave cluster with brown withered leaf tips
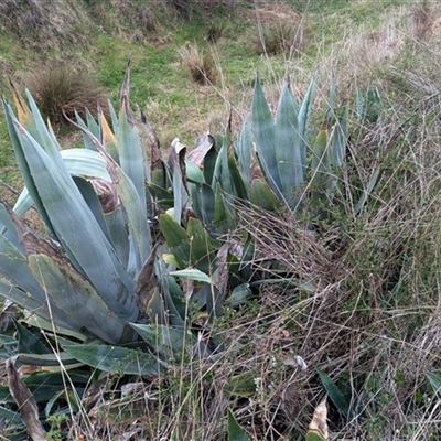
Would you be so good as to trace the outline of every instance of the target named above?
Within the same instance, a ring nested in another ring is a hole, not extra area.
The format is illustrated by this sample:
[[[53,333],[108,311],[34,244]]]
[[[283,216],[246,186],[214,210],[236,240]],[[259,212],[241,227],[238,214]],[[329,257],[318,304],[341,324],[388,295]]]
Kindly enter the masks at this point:
[[[147,375],[186,347],[209,354],[216,345],[187,332],[193,305],[211,320],[226,301],[244,301],[260,283],[250,263],[252,241],[233,234],[237,211],[302,211],[312,200],[319,216],[327,216],[333,204],[347,110],[334,111],[332,90],[329,115],[310,146],[315,78],[300,105],[283,85],[276,120],[257,79],[250,116],[234,141],[229,132],[217,139],[205,133],[187,154],[176,139],[169,161],[142,116],[147,154],[129,80],[130,65],[119,114],[109,106],[111,125],[89,112],[72,121],[83,132],[79,149],[61,149],[29,92],[26,103],[14,90],[17,115],[3,100],[25,184],[13,207],[0,201],[0,295],[23,313],[17,335],[3,338],[4,357],[46,369],[79,363]],[[369,103],[373,95],[358,99],[361,118]],[[23,217],[31,208],[43,227]],[[1,412],[10,417],[0,406]]]

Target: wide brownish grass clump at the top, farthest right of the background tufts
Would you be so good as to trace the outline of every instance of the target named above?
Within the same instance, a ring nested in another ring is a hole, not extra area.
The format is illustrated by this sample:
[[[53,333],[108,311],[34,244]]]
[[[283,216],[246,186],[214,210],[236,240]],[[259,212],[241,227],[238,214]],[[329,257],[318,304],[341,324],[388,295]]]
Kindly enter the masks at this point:
[[[251,44],[258,53],[268,55],[300,54],[309,40],[310,32],[303,22],[282,21],[259,26],[251,37]]]

